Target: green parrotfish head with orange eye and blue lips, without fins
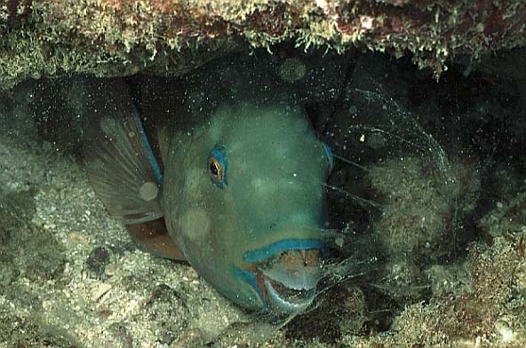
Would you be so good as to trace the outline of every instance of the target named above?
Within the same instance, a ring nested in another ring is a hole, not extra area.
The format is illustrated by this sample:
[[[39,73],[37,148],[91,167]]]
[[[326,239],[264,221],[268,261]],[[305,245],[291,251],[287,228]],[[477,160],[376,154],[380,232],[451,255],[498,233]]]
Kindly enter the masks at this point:
[[[237,304],[304,311],[323,275],[330,149],[294,107],[224,107],[195,133],[168,163],[185,172],[168,194],[172,237]]]

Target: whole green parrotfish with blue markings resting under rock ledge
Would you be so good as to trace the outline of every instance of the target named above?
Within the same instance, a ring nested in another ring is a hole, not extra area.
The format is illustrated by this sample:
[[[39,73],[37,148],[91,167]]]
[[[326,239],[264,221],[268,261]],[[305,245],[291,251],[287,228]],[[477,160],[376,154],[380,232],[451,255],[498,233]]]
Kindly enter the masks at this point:
[[[98,84],[87,176],[143,249],[187,260],[245,308],[296,314],[323,277],[331,149],[289,99],[232,93],[192,108],[188,93],[138,102],[126,83]]]

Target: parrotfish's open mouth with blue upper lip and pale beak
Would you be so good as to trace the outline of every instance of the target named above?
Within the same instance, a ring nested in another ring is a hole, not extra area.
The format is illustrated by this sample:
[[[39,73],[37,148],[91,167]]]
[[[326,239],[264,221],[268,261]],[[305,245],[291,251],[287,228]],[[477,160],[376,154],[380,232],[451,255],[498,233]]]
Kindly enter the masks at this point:
[[[253,276],[251,286],[255,288],[267,312],[275,314],[297,314],[304,312],[313,302],[316,286],[323,277],[323,241],[295,240],[292,249],[280,249],[279,243],[265,249],[274,249],[266,257],[253,260],[245,268]],[[261,250],[261,249],[260,249]],[[243,257],[251,259],[254,253]]]

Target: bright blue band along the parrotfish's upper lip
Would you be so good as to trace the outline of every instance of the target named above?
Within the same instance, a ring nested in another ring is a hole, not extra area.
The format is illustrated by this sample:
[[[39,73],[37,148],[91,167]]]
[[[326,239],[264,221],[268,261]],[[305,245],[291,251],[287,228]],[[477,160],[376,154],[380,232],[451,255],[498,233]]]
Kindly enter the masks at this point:
[[[259,262],[273,257],[277,254],[287,250],[304,250],[304,249],[319,249],[323,255],[327,255],[328,250],[325,242],[320,239],[297,239],[289,238],[282,241],[276,241],[265,248],[254,249],[243,254],[244,262]]]

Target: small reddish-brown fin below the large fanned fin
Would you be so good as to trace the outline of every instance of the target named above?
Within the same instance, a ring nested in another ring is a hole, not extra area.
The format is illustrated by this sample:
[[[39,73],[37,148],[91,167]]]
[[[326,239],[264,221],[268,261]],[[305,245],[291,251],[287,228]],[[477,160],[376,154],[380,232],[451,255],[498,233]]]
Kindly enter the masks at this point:
[[[187,260],[171,239],[164,224],[164,218],[157,218],[141,224],[126,225],[126,228],[140,249],[151,252],[158,257],[171,258],[177,261]]]

